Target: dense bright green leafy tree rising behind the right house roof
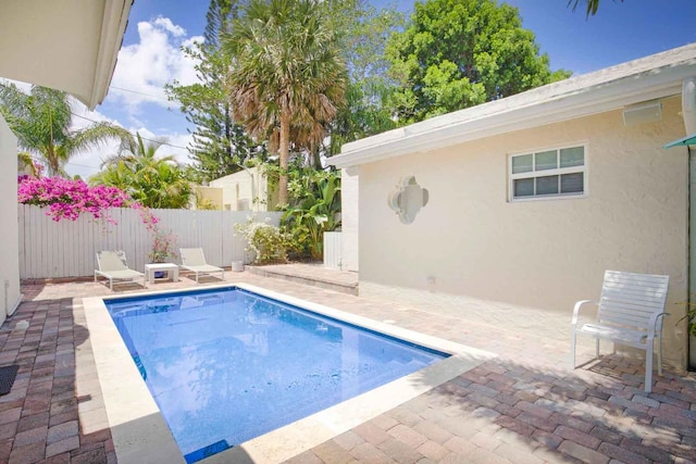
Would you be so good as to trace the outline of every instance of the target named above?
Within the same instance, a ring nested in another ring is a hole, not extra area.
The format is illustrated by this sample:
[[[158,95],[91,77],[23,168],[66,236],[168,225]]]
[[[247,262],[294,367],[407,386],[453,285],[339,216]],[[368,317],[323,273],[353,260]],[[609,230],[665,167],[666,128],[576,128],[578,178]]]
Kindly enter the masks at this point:
[[[415,3],[410,26],[387,46],[399,123],[497,100],[570,73],[549,70],[519,11],[495,0]]]

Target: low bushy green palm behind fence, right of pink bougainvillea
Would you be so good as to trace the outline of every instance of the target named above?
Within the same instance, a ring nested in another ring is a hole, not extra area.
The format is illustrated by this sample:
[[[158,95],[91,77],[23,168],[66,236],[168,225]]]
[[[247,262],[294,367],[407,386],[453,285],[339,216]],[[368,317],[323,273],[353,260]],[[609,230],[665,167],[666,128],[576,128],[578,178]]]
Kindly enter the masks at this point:
[[[156,156],[164,139],[144,142],[140,134],[121,142],[119,153],[102,162],[91,185],[119,187],[148,208],[181,209],[188,205],[191,186],[174,155]]]

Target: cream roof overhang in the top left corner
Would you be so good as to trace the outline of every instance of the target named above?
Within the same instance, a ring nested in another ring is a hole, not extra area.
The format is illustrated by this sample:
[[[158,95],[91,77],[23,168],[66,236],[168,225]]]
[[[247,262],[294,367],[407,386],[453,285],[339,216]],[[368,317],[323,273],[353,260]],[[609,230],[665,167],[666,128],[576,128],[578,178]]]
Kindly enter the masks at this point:
[[[2,0],[0,77],[64,90],[90,109],[107,95],[133,0]]]

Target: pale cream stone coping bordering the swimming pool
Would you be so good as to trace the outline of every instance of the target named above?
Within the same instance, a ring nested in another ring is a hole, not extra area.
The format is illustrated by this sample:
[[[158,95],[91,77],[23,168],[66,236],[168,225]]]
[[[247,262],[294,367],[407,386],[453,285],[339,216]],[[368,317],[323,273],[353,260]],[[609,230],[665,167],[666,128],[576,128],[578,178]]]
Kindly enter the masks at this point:
[[[198,461],[282,462],[370,421],[495,358],[496,354],[449,340],[419,334],[387,322],[339,311],[249,284],[198,287],[214,290],[236,287],[281,302],[451,354],[426,368],[377,387],[350,400],[296,421],[237,447]],[[181,293],[182,289],[105,296],[83,300],[97,374],[119,463],[185,463],[164,417],[121,339],[104,300]]]

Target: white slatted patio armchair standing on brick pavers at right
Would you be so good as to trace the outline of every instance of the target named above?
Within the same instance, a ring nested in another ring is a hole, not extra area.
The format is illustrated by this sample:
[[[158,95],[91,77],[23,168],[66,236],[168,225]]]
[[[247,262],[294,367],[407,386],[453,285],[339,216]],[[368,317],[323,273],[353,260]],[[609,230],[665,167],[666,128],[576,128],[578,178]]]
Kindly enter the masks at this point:
[[[577,334],[595,338],[599,358],[599,340],[645,350],[645,391],[652,387],[652,352],[657,342],[657,371],[662,375],[662,318],[670,285],[669,276],[605,272],[599,301],[575,303],[571,331],[572,367],[575,368],[575,338]],[[597,305],[597,318],[579,326],[580,309]]]

